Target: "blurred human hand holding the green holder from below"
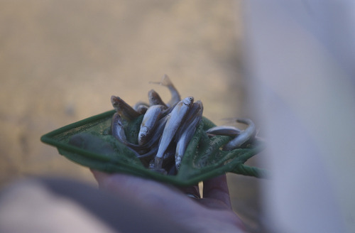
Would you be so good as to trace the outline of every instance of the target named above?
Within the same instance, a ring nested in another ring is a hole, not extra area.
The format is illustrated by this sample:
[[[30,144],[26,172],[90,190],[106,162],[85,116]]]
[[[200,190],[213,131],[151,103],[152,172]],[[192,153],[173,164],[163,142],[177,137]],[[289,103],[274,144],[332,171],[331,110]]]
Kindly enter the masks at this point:
[[[231,210],[226,175],[205,180],[203,198],[195,199],[186,194],[200,197],[197,185],[176,188],[132,175],[97,170],[92,173],[100,189],[128,202],[136,210],[142,210],[137,212],[138,218],[143,218],[146,210],[150,215],[156,215],[152,226],[168,220],[184,232],[244,232],[244,224]],[[146,232],[150,232],[149,229]]]

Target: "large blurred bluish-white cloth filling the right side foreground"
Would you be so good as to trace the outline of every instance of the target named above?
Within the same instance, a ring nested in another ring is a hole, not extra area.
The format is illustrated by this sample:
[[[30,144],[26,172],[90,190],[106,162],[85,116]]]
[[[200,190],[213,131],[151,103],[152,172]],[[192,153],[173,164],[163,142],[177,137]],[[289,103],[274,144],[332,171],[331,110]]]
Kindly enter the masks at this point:
[[[355,232],[355,1],[244,2],[273,232]]]

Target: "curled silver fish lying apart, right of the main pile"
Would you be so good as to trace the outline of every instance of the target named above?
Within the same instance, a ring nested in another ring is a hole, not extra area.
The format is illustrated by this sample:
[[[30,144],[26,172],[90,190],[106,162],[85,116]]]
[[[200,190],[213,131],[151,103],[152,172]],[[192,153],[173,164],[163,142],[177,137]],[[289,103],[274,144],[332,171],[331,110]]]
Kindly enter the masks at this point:
[[[229,141],[229,143],[226,143],[226,145],[223,147],[224,151],[231,151],[236,148],[240,148],[244,143],[250,141],[256,135],[256,126],[253,121],[251,121],[251,119],[239,118],[236,119],[236,121],[239,123],[247,124],[248,127],[244,131],[241,131],[241,133],[234,139]]]

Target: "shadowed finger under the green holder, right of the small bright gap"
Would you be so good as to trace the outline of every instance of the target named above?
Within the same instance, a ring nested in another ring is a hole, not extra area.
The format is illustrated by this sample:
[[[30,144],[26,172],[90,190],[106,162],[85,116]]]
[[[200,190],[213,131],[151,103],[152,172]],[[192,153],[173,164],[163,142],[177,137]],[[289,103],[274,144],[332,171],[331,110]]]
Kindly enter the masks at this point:
[[[226,207],[231,209],[231,199],[226,183],[226,175],[224,174],[216,178],[204,180],[203,197],[214,200],[214,203],[220,202],[222,205],[226,205]]]

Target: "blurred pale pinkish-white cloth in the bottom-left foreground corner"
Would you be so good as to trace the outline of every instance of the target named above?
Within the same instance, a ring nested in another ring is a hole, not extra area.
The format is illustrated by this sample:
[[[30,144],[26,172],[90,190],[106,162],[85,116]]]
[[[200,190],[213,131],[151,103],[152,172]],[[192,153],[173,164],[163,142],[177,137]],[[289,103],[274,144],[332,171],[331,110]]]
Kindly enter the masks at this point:
[[[0,194],[0,232],[117,233],[78,202],[53,193],[38,180],[18,181]]]

